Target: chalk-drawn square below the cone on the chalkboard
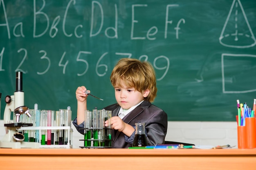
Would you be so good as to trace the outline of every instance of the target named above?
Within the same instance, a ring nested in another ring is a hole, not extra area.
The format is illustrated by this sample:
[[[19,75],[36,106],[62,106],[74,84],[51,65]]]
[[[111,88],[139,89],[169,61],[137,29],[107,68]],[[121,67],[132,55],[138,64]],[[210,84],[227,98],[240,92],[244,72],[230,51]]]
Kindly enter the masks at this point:
[[[256,55],[222,54],[222,92],[256,92]]]

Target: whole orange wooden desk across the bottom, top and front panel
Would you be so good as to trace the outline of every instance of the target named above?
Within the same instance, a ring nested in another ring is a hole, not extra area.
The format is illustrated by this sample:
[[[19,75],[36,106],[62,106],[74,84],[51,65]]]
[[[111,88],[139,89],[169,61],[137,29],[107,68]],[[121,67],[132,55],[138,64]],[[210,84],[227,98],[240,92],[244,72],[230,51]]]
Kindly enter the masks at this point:
[[[255,170],[256,149],[0,148],[0,167],[2,170]]]

